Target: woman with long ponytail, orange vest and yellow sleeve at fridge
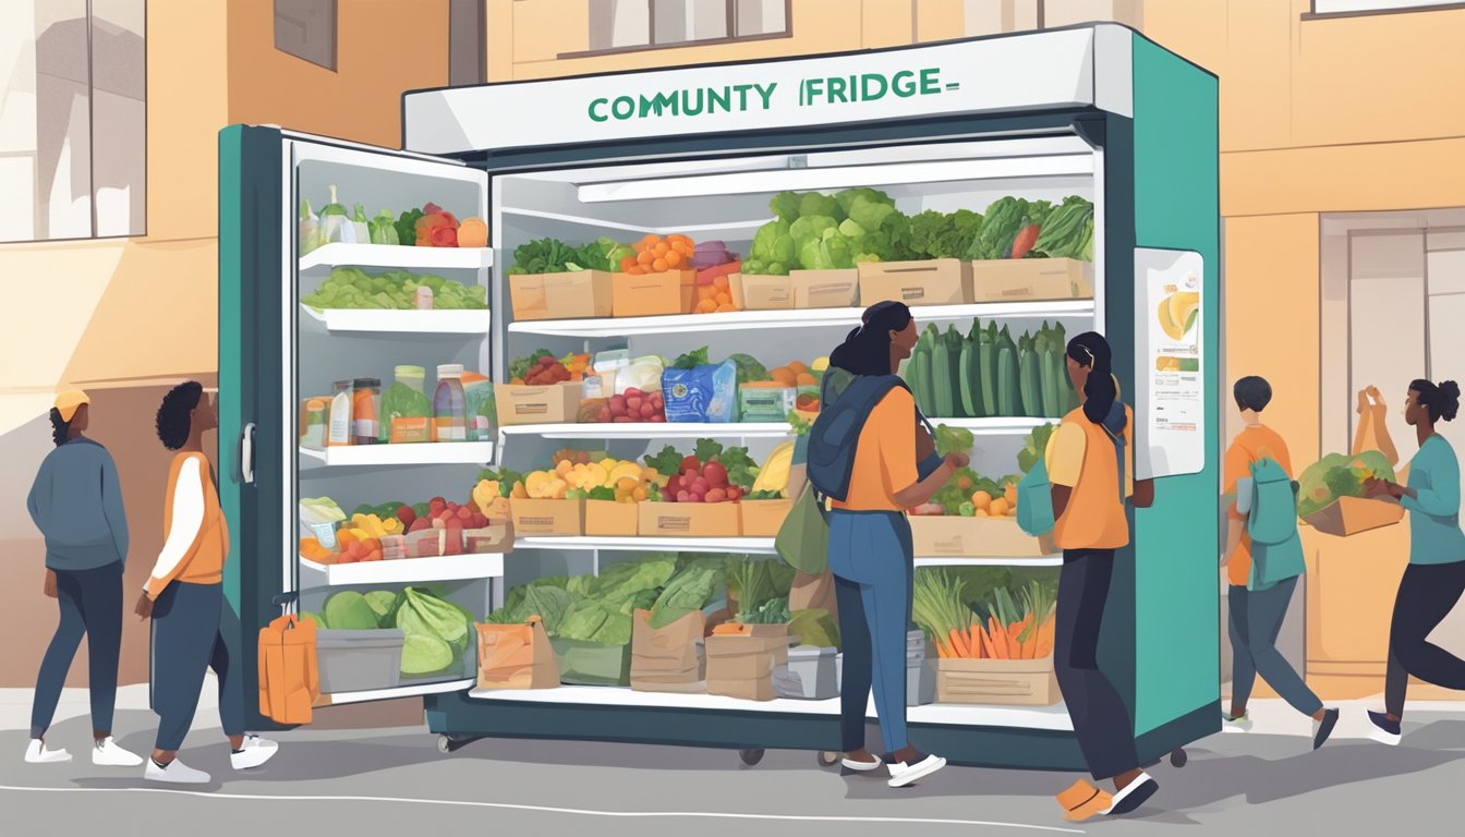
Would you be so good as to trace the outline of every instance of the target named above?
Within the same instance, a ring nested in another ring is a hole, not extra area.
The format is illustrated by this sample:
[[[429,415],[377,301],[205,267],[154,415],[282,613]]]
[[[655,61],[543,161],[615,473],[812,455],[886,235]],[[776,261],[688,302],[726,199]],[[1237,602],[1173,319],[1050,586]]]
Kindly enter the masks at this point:
[[[1119,400],[1110,359],[1109,342],[1097,333],[1068,342],[1068,377],[1080,405],[1064,416],[1045,454],[1053,539],[1064,551],[1053,667],[1088,771],[1115,786],[1110,794],[1078,783],[1059,794],[1071,819],[1128,814],[1159,790],[1140,770],[1130,711],[1099,668],[1115,551],[1130,544],[1124,503],[1132,497],[1144,509],[1154,500],[1151,482],[1134,482],[1134,410]]]

